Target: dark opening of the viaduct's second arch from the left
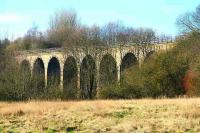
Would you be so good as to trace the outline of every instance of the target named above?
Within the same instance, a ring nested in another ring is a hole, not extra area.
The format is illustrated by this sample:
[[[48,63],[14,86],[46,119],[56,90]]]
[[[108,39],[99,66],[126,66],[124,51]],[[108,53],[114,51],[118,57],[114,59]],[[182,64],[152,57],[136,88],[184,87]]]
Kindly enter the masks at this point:
[[[33,90],[36,93],[44,92],[45,87],[45,73],[44,63],[42,59],[38,58],[33,65]]]

